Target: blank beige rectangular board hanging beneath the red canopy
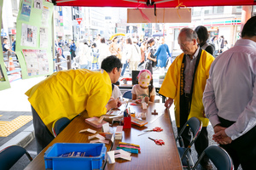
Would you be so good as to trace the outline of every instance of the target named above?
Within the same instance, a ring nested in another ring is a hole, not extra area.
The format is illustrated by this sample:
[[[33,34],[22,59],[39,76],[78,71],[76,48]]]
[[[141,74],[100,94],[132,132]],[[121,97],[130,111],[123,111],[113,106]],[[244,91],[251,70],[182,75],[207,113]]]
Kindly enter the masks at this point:
[[[191,23],[191,8],[127,8],[127,23]]]

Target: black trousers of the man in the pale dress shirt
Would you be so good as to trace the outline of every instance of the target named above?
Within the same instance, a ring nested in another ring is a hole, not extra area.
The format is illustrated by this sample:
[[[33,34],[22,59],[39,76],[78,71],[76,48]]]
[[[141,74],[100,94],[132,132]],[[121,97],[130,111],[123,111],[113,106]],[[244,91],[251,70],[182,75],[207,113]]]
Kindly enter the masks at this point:
[[[218,119],[222,127],[230,127],[234,123],[222,117],[218,117]],[[256,169],[256,126],[230,144],[220,144],[220,146],[230,154],[235,169],[240,164],[243,170]]]

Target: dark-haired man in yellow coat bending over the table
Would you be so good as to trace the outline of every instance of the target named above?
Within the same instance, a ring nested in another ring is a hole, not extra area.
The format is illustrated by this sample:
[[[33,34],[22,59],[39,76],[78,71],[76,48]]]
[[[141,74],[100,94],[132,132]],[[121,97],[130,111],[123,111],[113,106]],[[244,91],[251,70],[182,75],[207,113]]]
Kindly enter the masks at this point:
[[[88,117],[102,116],[119,106],[117,99],[108,100],[111,83],[118,81],[121,67],[118,58],[109,56],[102,61],[101,71],[58,71],[26,92],[32,105],[38,153],[54,139],[51,129],[55,120],[72,120],[85,110]]]

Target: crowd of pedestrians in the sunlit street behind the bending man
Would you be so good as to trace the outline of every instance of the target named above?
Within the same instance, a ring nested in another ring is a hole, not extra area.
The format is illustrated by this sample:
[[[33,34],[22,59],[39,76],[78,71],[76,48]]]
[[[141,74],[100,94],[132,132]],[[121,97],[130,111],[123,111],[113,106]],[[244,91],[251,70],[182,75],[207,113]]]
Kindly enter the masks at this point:
[[[73,60],[73,68],[90,70],[98,70],[102,65],[103,59],[109,55],[115,55],[123,64],[121,72],[121,77],[123,77],[126,69],[129,69],[130,74],[131,71],[137,71],[139,67],[148,69],[152,74],[154,66],[164,70],[166,60],[172,54],[165,43],[164,37],[161,37],[160,41],[158,41],[153,37],[144,40],[139,40],[136,37],[113,37],[112,40],[106,41],[99,34],[93,41],[83,39],[79,40],[79,42],[72,41],[71,44],[64,43],[58,39],[55,43],[55,48],[56,53],[59,53],[65,59],[63,48],[68,46]]]

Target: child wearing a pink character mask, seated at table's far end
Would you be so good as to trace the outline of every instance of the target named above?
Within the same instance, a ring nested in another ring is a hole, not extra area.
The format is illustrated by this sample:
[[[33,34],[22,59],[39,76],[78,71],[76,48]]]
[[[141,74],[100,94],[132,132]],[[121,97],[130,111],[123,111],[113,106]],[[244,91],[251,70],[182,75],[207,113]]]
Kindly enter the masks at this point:
[[[136,100],[137,103],[145,101],[154,102],[155,88],[153,86],[153,78],[151,72],[148,70],[142,70],[139,72],[138,84],[134,85],[131,90],[132,100]]]

